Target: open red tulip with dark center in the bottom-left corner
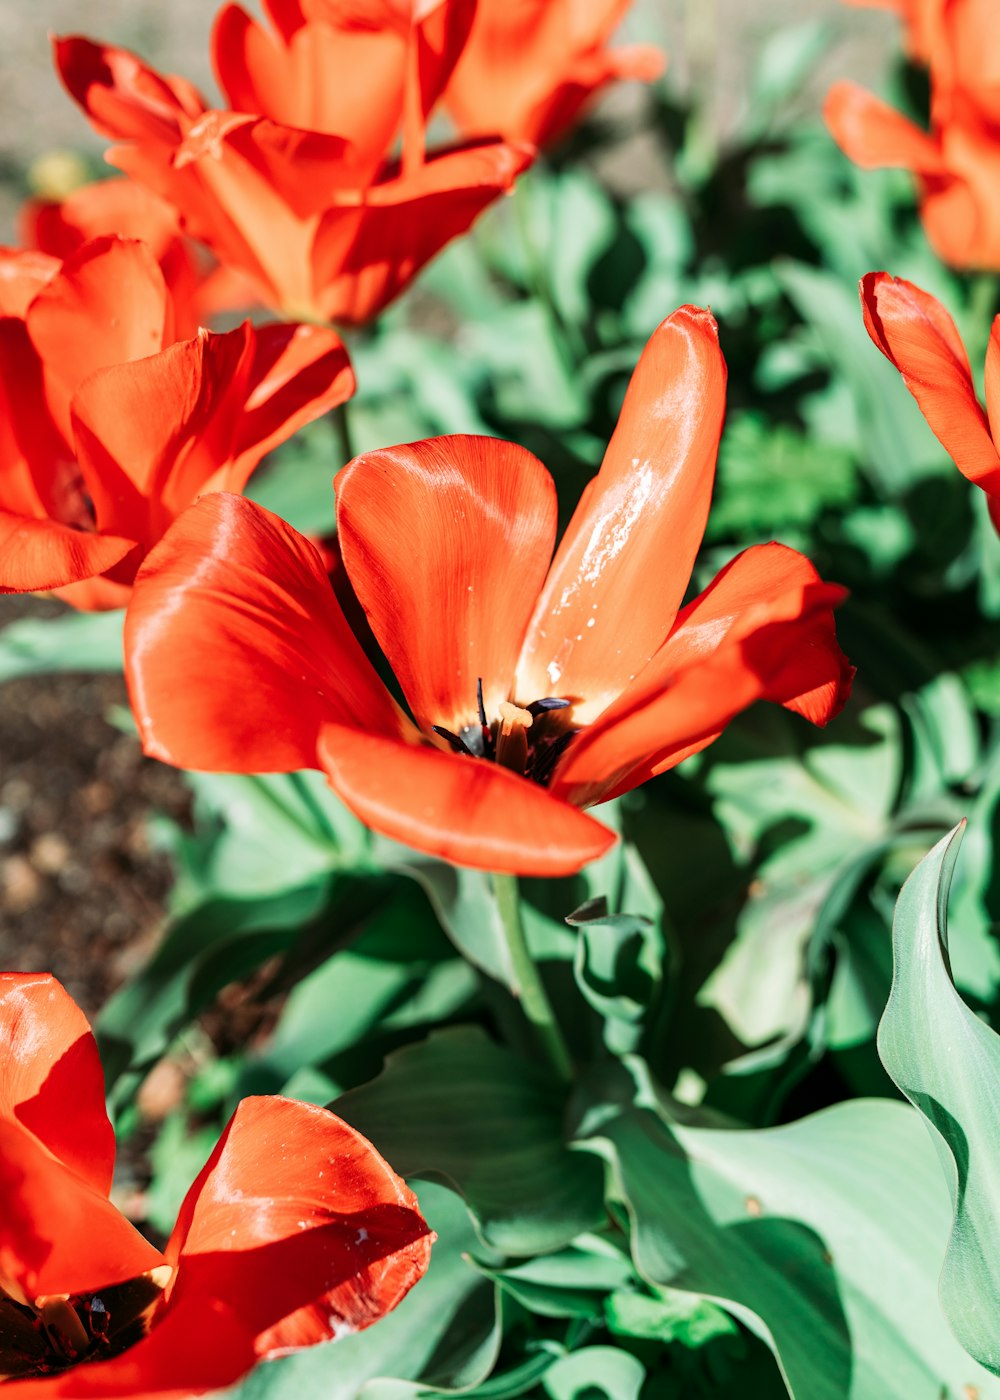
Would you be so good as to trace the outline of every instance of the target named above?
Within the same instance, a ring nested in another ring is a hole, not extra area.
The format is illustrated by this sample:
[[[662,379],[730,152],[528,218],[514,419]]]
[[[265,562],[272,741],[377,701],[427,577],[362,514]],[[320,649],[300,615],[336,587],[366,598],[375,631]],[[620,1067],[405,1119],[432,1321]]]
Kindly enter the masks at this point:
[[[244,1099],[161,1252],[108,1200],[97,1044],[49,976],[0,974],[0,1383],[182,1397],[368,1327],[424,1273],[416,1198],[325,1109]]]

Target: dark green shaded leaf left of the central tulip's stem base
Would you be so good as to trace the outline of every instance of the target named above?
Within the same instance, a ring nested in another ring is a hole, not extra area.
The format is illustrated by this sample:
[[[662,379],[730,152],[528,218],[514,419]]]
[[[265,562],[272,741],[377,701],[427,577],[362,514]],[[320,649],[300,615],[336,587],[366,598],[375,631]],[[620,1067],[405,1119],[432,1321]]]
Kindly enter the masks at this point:
[[[332,1107],[398,1172],[454,1184],[504,1253],[560,1249],[604,1219],[602,1172],[564,1141],[564,1089],[480,1030],[441,1030],[391,1054]]]

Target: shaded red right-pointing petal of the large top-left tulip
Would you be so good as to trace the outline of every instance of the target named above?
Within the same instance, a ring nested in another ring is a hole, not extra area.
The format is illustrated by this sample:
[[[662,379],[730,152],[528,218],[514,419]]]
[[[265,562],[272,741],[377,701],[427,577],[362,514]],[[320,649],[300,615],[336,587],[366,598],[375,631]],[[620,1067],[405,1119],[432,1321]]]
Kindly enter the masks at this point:
[[[332,200],[312,244],[318,314],[343,325],[371,321],[513,186],[534,154],[503,141],[440,151],[403,176]]]

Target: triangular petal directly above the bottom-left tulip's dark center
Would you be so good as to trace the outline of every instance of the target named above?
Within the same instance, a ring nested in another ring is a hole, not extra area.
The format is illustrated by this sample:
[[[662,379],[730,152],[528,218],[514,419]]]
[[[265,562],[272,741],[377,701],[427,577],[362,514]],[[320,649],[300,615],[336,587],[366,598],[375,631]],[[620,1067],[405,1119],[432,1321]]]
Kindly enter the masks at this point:
[[[0,1119],[0,1277],[28,1299],[94,1292],[162,1264],[105,1191],[11,1119]]]

